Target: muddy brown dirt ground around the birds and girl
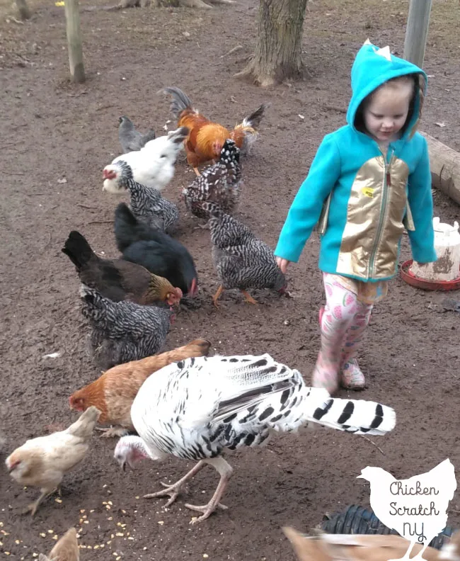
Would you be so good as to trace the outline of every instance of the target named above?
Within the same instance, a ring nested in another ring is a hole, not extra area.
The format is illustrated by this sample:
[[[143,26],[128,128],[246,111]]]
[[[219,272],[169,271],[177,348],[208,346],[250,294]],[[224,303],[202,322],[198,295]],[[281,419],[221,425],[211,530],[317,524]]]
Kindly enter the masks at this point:
[[[110,221],[118,200],[102,192],[101,176],[120,152],[118,116],[161,134],[168,101],[156,92],[167,85],[183,88],[200,111],[226,125],[270,102],[260,142],[243,167],[240,217],[275,246],[321,137],[345,122],[355,52],[369,36],[401,54],[408,2],[310,1],[304,26],[309,76],[267,90],[232,77],[253,50],[255,0],[208,11],[83,12],[88,80],[81,86],[67,80],[64,8],[52,0],[32,5],[32,21],[16,23],[7,8],[0,21],[1,461],[26,438],[74,420],[67,398],[98,376],[86,351],[79,282],[61,247],[70,230],[79,229],[96,251],[117,255]],[[456,150],[459,12],[456,0],[433,3],[422,123],[422,130]],[[236,45],[242,48],[226,55]],[[166,196],[179,200],[191,179],[182,158]],[[442,221],[459,219],[459,207],[442,193],[435,193],[435,205]],[[206,337],[219,353],[268,352],[309,380],[323,300],[316,236],[289,271],[292,299],[256,293],[260,305],[254,308],[229,291],[214,310],[209,232],[194,229],[195,223],[183,209],[179,237],[195,257],[202,306],[178,316],[165,350]],[[401,262],[409,256],[405,240]],[[398,416],[389,436],[373,439],[380,449],[358,436],[319,430],[236,453],[229,458],[235,468],[224,501],[229,510],[191,526],[182,497],[167,510],[163,500],[142,499],[159,489],[160,480],[176,480],[188,463],[146,462],[123,475],[112,457],[115,440],[94,438],[84,465],[65,478],[62,502],[49,499],[35,519],[21,510],[38,490],[24,491],[0,469],[0,550],[31,559],[52,548],[55,534],[76,526],[82,561],[293,560],[280,528],[306,531],[326,511],[369,505],[369,485],[356,479],[363,467],[378,465],[403,479],[450,458],[460,470],[460,315],[440,312],[443,297],[396,278],[374,312],[361,358],[369,388],[360,397],[389,404]],[[44,358],[54,352],[58,358]],[[191,502],[207,500],[216,484],[211,468],[201,472],[189,486]],[[454,528],[460,527],[459,512],[457,492],[449,511]]]

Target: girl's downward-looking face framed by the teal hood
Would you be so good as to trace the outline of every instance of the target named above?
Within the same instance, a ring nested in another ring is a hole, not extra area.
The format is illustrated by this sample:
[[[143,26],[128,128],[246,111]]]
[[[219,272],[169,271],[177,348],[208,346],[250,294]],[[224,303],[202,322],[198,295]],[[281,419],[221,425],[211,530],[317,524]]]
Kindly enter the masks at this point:
[[[413,84],[404,81],[378,89],[363,111],[367,132],[377,142],[392,142],[406,123]]]

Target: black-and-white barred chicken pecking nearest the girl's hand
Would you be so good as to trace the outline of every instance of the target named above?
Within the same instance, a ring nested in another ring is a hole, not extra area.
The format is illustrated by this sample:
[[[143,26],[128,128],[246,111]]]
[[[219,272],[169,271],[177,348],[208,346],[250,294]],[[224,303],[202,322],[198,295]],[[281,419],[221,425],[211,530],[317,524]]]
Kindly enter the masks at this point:
[[[286,278],[277,266],[270,247],[257,239],[251,230],[234,217],[221,212],[215,205],[205,203],[211,212],[212,258],[220,286],[212,297],[214,306],[224,288],[238,288],[246,302],[257,304],[247,288],[272,288],[286,291]]]

